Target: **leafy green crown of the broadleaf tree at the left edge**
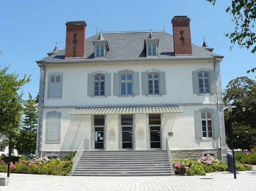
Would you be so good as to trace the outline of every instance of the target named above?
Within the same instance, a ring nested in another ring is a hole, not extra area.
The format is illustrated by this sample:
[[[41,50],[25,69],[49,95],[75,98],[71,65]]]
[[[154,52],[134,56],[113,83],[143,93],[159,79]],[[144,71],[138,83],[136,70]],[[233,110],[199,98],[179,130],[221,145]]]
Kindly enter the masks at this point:
[[[22,87],[30,81],[26,75],[19,79],[15,73],[8,74],[8,67],[0,68],[0,133],[12,137],[22,120]]]

